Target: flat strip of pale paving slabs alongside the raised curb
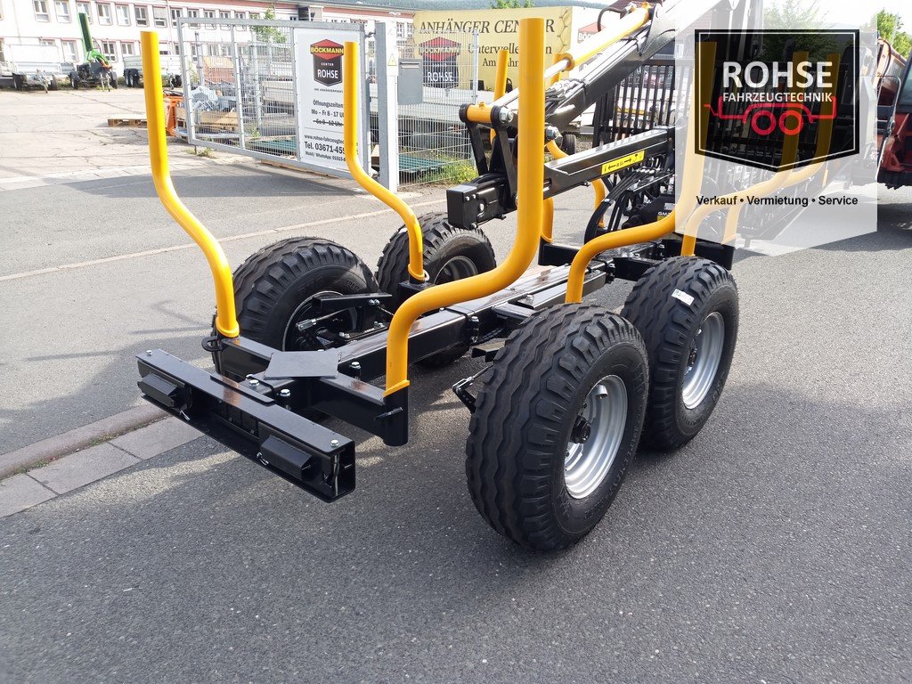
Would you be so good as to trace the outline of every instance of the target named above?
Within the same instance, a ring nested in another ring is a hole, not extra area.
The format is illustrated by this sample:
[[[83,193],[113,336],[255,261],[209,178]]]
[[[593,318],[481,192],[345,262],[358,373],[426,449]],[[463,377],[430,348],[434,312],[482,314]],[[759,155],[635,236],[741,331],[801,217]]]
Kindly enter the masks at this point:
[[[166,418],[0,480],[0,518],[72,492],[201,436],[181,420]]]

